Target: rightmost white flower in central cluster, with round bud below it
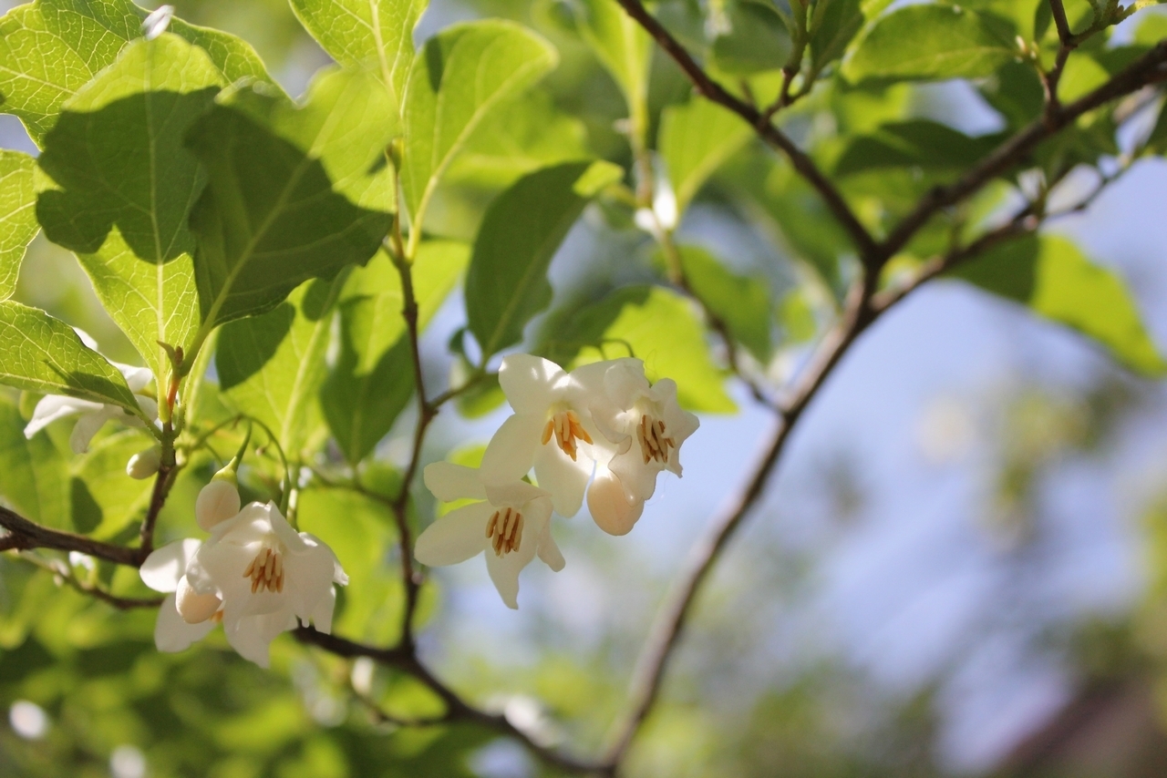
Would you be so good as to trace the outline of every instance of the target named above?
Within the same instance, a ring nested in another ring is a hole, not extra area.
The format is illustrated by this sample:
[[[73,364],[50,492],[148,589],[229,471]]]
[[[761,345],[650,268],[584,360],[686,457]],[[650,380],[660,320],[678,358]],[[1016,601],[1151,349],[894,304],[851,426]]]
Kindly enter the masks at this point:
[[[657,476],[663,470],[680,476],[680,447],[700,422],[677,405],[676,381],[650,385],[640,359],[609,363],[603,386],[610,404],[598,404],[593,420],[616,450],[609,472],[599,474],[588,490],[588,510],[600,528],[624,534],[656,491]],[[612,476],[623,488],[624,503]]]

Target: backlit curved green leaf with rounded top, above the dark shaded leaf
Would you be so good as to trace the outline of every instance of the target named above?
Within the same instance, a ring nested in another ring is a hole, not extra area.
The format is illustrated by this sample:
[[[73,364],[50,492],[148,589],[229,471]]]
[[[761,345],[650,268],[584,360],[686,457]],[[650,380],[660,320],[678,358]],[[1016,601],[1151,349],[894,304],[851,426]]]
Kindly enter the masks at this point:
[[[412,219],[411,244],[420,240],[429,198],[470,133],[557,61],[546,41],[503,21],[455,24],[426,42],[405,100],[401,189]]]

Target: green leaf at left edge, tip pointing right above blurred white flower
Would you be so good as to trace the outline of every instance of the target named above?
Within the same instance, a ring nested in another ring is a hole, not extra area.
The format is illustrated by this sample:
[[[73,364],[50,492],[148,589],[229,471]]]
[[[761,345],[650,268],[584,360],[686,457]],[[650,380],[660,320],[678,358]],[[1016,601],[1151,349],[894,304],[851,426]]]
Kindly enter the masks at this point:
[[[0,383],[141,414],[118,369],[86,348],[71,327],[12,300],[0,302]]]

